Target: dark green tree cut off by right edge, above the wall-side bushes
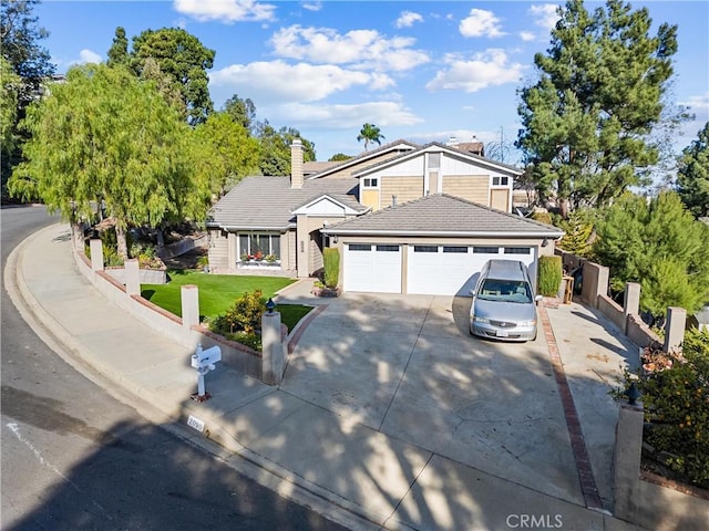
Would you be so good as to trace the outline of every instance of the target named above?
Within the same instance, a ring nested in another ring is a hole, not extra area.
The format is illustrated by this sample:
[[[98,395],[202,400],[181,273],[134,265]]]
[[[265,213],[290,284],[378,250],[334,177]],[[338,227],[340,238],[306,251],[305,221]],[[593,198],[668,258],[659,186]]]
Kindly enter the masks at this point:
[[[709,216],[709,122],[698,133],[698,138],[682,150],[677,192],[696,218]]]

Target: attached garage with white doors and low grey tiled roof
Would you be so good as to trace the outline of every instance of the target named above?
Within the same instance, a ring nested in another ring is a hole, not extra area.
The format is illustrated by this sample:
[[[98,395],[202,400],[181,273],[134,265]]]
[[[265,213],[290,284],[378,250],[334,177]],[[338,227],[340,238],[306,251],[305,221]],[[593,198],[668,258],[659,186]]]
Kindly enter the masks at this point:
[[[322,229],[341,249],[343,291],[470,296],[487,260],[536,261],[564,232],[443,194]]]

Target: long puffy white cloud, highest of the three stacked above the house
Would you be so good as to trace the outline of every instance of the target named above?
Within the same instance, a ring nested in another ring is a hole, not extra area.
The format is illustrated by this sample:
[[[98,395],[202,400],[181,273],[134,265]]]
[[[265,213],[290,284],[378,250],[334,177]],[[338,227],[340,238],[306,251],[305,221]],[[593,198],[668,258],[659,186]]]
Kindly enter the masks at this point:
[[[276,55],[315,63],[350,64],[380,71],[404,71],[430,61],[427,53],[411,46],[415,39],[387,39],[376,30],[353,30],[339,34],[328,28],[281,28],[270,40]]]

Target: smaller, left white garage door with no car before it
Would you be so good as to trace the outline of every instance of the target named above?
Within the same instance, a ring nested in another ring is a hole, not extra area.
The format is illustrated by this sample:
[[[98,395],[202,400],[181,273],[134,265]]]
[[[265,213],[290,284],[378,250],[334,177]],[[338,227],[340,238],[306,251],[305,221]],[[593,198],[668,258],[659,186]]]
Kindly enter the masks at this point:
[[[345,246],[345,291],[401,293],[401,246]]]

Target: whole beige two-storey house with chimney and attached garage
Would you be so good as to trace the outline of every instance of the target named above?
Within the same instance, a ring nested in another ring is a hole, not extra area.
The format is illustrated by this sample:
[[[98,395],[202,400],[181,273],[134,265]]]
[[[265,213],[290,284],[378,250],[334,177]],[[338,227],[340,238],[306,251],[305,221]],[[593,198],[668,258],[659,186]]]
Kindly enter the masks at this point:
[[[440,143],[397,140],[290,177],[247,177],[212,209],[209,266],[307,278],[322,249],[340,251],[345,291],[466,293],[491,258],[527,263],[553,254],[563,232],[512,211],[522,171]]]

